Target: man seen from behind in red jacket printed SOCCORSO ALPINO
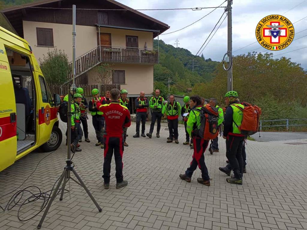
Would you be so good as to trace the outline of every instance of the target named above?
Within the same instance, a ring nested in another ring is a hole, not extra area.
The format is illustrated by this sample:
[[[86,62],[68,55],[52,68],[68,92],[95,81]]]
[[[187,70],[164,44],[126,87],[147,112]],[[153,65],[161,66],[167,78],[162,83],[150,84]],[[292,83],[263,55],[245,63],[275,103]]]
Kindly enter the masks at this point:
[[[116,177],[116,188],[119,189],[128,184],[127,181],[123,180],[122,175],[122,154],[124,151],[123,146],[123,127],[129,127],[131,125],[130,112],[127,107],[119,104],[120,91],[118,89],[112,89],[111,92],[111,103],[102,105],[99,100],[96,101],[97,108],[103,112],[103,116],[106,122],[106,129],[104,135],[104,162],[103,162],[103,179],[104,188],[109,188],[110,183],[110,172],[111,172],[111,160],[114,150],[115,159],[115,177]]]

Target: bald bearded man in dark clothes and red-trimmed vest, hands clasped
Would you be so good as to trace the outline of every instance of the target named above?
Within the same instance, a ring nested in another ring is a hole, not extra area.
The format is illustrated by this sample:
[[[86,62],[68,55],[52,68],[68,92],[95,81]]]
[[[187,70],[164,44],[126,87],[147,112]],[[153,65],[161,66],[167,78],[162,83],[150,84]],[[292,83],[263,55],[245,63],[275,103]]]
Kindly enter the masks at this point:
[[[145,123],[147,116],[147,108],[149,107],[149,101],[144,97],[145,93],[142,91],[140,96],[135,99],[136,108],[136,134],[133,137],[140,137],[140,123],[142,120],[142,137],[145,136]]]

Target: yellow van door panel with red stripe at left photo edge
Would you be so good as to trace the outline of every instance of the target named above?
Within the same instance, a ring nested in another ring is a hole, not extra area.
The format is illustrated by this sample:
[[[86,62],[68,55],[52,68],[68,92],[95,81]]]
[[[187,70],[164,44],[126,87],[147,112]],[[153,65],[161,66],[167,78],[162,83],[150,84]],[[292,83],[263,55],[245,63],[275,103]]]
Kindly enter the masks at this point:
[[[16,103],[6,50],[0,44],[0,171],[14,163],[17,154]]]

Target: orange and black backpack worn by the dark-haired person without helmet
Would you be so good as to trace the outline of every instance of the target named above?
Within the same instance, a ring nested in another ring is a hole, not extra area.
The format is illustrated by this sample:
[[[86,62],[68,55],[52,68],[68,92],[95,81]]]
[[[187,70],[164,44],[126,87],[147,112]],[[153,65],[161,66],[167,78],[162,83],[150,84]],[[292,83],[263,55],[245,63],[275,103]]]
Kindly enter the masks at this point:
[[[198,109],[192,109],[192,111],[199,111]],[[218,129],[218,117],[219,109],[212,107],[210,104],[201,107],[200,111],[200,128],[195,132],[204,140],[213,140],[219,135]],[[195,112],[193,112],[195,113]]]

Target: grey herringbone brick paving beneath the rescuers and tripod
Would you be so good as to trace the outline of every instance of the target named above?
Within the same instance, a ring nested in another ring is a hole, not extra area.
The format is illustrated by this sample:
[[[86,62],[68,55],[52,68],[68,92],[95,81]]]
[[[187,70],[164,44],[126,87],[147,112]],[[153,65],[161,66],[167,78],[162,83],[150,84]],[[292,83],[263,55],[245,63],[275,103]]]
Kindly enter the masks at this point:
[[[64,130],[63,124],[61,128]],[[73,161],[103,212],[99,213],[83,188],[71,181],[67,185],[70,193],[64,195],[63,201],[55,200],[42,229],[307,229],[307,144],[249,141],[247,174],[243,186],[237,186],[228,184],[226,175],[218,170],[226,159],[225,144],[220,140],[220,153],[210,155],[206,151],[205,161],[212,178],[207,187],[196,181],[199,169],[191,183],[178,177],[191,161],[192,151],[182,145],[184,128],[179,128],[180,144],[167,144],[168,131],[164,129],[160,139],[150,140],[132,138],[135,124],[128,128],[130,146],[125,148],[123,161],[124,178],[129,184],[115,189],[113,161],[110,189],[104,190],[103,152],[94,145],[90,124],[91,143],[82,142],[83,151],[76,153]],[[307,143],[307,139],[299,142]],[[44,191],[52,188],[64,167],[64,143],[48,154],[33,152],[0,172],[1,206],[11,197],[5,194],[19,186],[36,185]],[[30,217],[40,205],[36,202],[25,206],[20,210],[21,217]],[[17,211],[15,207],[0,213],[1,230],[36,228],[42,213],[20,222]]]

